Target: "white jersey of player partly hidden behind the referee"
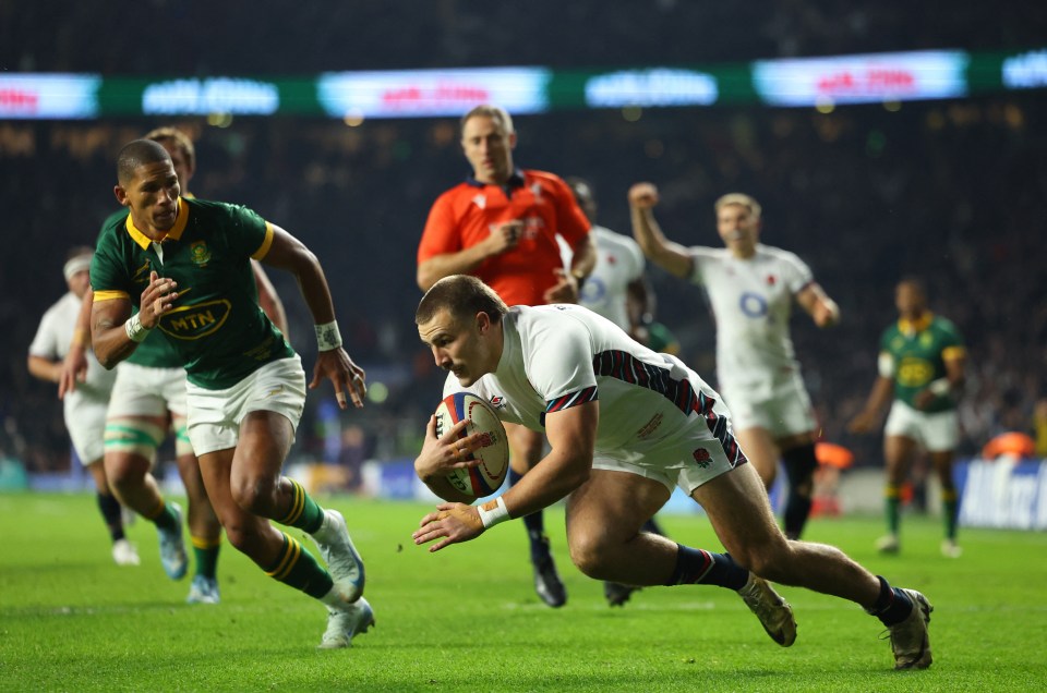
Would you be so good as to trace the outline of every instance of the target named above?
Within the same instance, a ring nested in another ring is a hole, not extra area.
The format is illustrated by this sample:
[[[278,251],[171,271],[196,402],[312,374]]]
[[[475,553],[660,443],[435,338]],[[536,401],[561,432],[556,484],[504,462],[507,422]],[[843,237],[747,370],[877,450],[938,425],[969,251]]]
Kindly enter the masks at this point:
[[[597,264],[581,285],[578,303],[628,330],[626,294],[629,284],[643,276],[643,251],[633,239],[604,227],[592,227],[590,233],[597,244]]]

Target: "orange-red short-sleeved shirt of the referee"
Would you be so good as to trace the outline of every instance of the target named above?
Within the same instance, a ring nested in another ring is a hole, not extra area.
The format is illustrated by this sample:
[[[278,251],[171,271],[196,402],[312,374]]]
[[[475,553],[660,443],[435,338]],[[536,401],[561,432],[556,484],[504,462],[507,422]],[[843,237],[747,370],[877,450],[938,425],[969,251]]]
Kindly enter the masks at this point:
[[[556,269],[564,268],[556,234],[578,247],[591,226],[570,189],[553,173],[517,169],[505,187],[471,177],[452,187],[429,212],[418,263],[471,247],[495,224],[514,220],[524,222],[516,247],[489,257],[473,275],[508,305],[541,305],[542,294],[556,283]]]

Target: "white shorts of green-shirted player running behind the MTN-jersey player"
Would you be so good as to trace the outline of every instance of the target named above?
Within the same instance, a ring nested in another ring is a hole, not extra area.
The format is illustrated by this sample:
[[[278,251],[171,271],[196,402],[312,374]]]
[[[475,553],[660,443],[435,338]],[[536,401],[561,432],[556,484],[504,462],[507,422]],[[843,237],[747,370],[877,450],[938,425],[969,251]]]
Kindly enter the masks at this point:
[[[109,399],[109,418],[185,415],[185,370],[123,362]]]

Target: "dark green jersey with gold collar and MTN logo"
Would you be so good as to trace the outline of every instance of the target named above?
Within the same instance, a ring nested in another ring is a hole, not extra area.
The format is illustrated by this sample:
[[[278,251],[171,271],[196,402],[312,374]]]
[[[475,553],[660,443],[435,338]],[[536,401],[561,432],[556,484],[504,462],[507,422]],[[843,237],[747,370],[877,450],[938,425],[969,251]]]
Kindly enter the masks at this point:
[[[258,307],[251,259],[265,257],[272,242],[264,219],[225,203],[179,198],[178,219],[159,243],[130,216],[113,218],[91,264],[95,301],[137,303],[151,271],[173,279],[174,308],[155,331],[167,338],[190,382],[222,390],[294,354]]]

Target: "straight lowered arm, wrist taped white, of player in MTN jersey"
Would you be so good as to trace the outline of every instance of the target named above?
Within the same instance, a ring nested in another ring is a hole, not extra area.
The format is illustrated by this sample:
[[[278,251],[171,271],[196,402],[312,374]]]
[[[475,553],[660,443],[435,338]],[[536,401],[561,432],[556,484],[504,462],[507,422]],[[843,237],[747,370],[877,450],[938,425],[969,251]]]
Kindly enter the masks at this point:
[[[272,226],[273,243],[269,245],[268,253],[261,259],[266,265],[294,275],[316,326],[318,354],[309,387],[315,389],[324,379],[330,380],[335,387],[338,406],[341,409],[348,406],[346,400],[348,392],[353,406],[361,408],[363,398],[368,393],[366,374],[341,348],[341,335],[335,321],[335,305],[330,299],[330,289],[327,285],[324,269],[304,243],[276,224]]]

